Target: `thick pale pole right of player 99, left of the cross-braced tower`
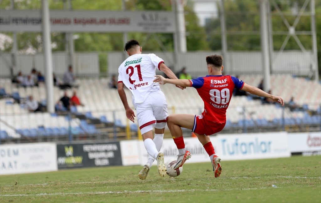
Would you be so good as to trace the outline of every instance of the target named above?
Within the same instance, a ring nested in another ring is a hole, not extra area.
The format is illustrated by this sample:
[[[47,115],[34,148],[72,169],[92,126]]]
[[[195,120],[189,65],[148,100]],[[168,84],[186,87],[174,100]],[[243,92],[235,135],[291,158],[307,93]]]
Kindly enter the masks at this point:
[[[261,50],[262,65],[264,69],[264,91],[271,89],[271,73],[270,73],[270,54],[269,54],[269,38],[266,19],[266,0],[260,0],[260,28],[261,28]]]

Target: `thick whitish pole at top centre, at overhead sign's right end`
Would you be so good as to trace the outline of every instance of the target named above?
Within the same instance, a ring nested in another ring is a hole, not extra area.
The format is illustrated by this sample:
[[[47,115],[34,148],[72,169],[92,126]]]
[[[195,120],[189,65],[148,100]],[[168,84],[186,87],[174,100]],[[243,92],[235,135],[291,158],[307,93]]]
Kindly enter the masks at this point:
[[[187,52],[186,45],[186,29],[185,29],[185,17],[184,17],[184,7],[182,1],[175,1],[177,9],[177,25],[178,28],[178,41],[179,41],[179,51],[181,53]]]

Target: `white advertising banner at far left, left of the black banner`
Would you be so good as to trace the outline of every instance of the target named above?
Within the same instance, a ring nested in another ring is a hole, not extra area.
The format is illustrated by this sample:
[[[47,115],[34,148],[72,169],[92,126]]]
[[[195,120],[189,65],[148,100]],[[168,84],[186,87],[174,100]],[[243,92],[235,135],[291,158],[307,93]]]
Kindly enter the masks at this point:
[[[0,175],[56,171],[56,144],[2,144],[0,163]]]

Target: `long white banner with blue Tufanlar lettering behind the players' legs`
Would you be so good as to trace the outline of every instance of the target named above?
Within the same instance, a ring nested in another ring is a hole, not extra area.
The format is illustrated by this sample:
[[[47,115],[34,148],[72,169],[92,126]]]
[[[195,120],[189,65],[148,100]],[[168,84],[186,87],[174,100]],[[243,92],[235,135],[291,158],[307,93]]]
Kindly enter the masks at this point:
[[[281,133],[255,133],[255,134],[222,134],[211,136],[215,153],[222,160],[243,160],[261,158],[290,157],[290,148],[286,132]],[[203,145],[197,138],[184,138],[185,147],[192,154],[188,163],[210,161]],[[140,141],[140,165],[145,165],[149,157],[143,141]],[[178,150],[173,139],[164,139],[160,150],[164,153],[165,162],[177,158]],[[156,161],[154,162],[156,164]]]

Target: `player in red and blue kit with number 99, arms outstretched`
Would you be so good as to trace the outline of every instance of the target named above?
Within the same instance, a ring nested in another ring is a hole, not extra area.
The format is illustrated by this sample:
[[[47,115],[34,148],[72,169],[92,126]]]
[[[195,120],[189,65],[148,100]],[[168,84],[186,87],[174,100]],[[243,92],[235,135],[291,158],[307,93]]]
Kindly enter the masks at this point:
[[[181,127],[184,127],[191,129],[203,144],[204,149],[210,156],[214,175],[219,177],[222,170],[220,164],[221,158],[215,154],[209,135],[218,133],[224,128],[226,110],[229,107],[234,88],[257,96],[270,98],[275,102],[281,103],[282,106],[284,101],[281,97],[268,94],[254,86],[247,85],[236,77],[230,75],[223,76],[223,57],[220,55],[207,56],[206,63],[209,73],[206,77],[187,80],[166,79],[162,76],[156,76],[154,82],[159,82],[161,85],[169,83],[182,87],[194,87],[204,101],[204,112],[202,115],[174,114],[168,117],[167,125],[178,149],[177,164],[174,166],[174,169],[182,166],[191,157],[191,153],[185,150],[181,129]]]

